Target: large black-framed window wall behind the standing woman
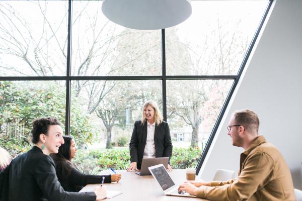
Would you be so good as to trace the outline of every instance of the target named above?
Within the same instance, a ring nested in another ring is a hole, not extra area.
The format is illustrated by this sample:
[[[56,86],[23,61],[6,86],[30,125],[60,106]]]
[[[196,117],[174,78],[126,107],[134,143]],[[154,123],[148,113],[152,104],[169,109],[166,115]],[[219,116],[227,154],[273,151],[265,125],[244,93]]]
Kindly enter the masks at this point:
[[[182,24],[142,31],[110,22],[102,1],[0,1],[0,146],[27,151],[31,122],[53,116],[78,144],[79,169],[124,169],[152,99],[169,123],[172,167],[195,167],[271,1],[191,4]]]

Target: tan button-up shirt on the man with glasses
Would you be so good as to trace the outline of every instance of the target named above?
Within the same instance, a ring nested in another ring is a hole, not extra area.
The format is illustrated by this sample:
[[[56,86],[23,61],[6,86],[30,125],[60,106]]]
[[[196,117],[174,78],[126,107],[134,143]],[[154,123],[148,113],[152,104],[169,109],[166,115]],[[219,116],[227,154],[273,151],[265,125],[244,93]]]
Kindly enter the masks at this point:
[[[259,136],[240,155],[238,177],[201,186],[197,197],[210,200],[295,200],[289,168],[278,149]]]

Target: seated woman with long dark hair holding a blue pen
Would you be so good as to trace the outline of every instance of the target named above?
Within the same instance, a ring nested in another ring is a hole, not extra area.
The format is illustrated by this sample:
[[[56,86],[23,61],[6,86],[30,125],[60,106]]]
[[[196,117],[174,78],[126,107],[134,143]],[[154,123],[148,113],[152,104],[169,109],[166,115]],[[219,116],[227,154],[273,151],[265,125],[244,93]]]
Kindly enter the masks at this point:
[[[77,145],[75,145],[74,139],[71,136],[64,136],[64,144],[59,147],[57,154],[51,154],[51,157],[55,163],[55,170],[59,182],[64,190],[79,192],[84,185],[89,183],[101,183],[102,177],[105,177],[106,183],[119,181],[121,179],[120,174],[112,175],[90,175],[83,174],[78,171],[71,163],[71,159],[75,157],[77,153]]]

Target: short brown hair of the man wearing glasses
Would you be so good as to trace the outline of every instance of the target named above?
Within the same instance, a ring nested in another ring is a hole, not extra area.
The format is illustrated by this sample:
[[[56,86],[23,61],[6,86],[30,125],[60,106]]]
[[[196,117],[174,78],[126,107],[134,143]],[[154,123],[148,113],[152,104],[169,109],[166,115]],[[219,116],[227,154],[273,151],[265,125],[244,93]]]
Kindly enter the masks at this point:
[[[233,113],[236,124],[242,125],[247,131],[253,132],[259,129],[258,115],[249,109],[238,110]]]

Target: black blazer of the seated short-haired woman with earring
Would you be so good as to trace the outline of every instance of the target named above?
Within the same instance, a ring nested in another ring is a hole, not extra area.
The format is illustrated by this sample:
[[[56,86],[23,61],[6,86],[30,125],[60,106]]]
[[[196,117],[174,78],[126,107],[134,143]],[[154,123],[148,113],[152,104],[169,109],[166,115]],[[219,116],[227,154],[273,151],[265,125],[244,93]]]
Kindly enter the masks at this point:
[[[94,192],[67,192],[55,174],[54,162],[34,146],[10,164],[7,201],[96,200]]]

